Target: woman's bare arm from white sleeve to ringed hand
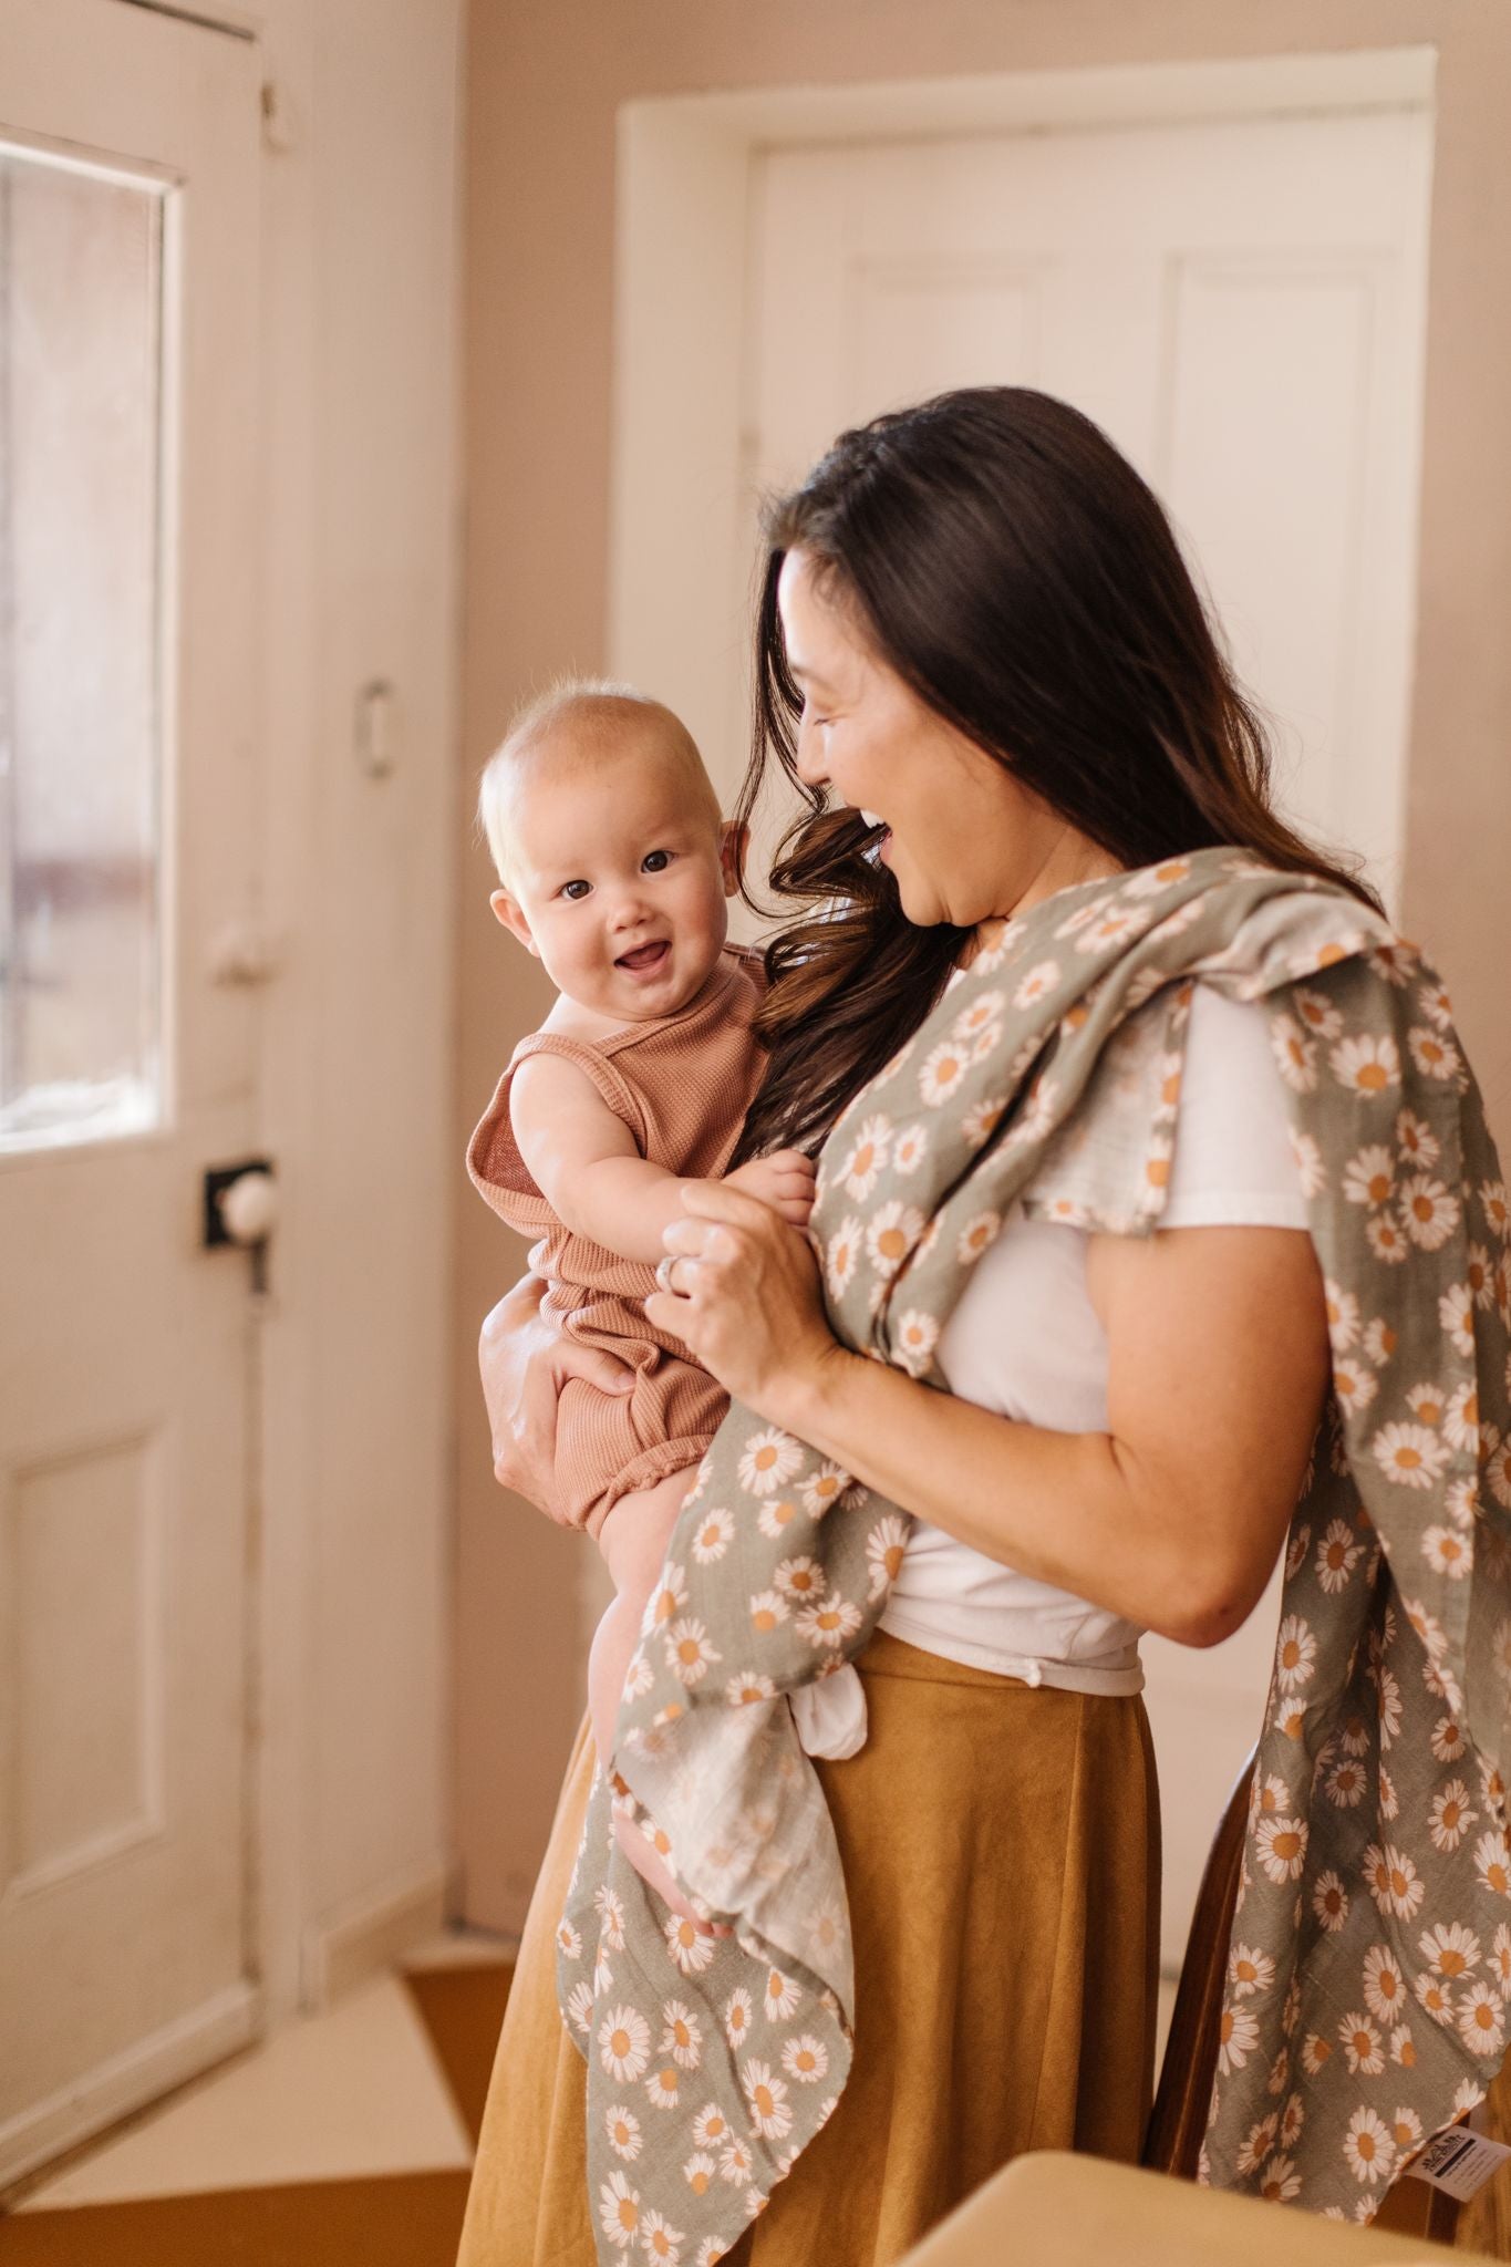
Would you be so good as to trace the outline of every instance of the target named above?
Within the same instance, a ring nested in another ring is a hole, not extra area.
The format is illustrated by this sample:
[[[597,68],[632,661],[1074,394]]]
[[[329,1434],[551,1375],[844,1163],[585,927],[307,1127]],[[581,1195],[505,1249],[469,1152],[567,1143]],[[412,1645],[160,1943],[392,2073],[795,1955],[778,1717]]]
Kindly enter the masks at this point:
[[[850,1353],[806,1242],[729,1190],[691,1192],[652,1301],[750,1408],[947,1535],[1187,1646],[1228,1637],[1284,1537],[1328,1387],[1312,1240],[1296,1229],[1099,1236],[1108,1430],[1049,1433]]]

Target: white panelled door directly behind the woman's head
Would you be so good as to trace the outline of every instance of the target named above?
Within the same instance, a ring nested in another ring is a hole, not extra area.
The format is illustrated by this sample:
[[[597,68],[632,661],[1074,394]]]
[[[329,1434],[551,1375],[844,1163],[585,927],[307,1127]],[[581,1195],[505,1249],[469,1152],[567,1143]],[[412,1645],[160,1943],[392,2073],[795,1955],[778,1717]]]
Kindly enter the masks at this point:
[[[1393,893],[1429,163],[1420,109],[770,152],[757,483],[951,385],[1074,401],[1171,510],[1278,725],[1282,805]],[[1212,1653],[1144,1646],[1171,1968],[1260,1730],[1275,1598]]]

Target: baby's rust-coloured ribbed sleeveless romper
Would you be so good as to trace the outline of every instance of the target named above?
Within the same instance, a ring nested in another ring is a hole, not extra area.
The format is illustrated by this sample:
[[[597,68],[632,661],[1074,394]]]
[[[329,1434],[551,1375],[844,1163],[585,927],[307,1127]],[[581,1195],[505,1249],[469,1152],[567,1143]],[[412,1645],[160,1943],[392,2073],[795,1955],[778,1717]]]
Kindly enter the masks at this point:
[[[607,1347],[634,1367],[634,1392],[605,1394],[569,1378],[557,1403],[550,1510],[589,1535],[621,1496],[698,1464],[729,1396],[689,1360],[682,1340],[646,1319],[655,1267],[575,1236],[550,1211],[510,1129],[510,1081],[530,1054],[562,1054],[582,1065],[652,1165],[718,1179],[766,1068],[750,1034],[759,1002],[759,957],[725,945],[709,982],[677,1016],[603,1041],[557,1031],[521,1038],[467,1149],[467,1170],[494,1211],[539,1236],[530,1267],[546,1279],[546,1313],[560,1315],[584,1347]]]

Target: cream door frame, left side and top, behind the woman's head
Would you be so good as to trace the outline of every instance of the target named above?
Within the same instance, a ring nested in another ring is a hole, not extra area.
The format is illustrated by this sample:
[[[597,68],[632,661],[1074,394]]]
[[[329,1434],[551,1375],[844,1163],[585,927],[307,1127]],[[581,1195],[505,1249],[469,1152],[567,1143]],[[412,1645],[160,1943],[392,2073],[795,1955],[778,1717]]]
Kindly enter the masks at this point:
[[[1307,111],[1429,109],[1436,50],[1119,63],[752,93],[618,111],[607,666],[655,685],[734,791],[732,648],[752,560],[743,433],[752,170],[766,150]],[[734,587],[732,587],[732,562]]]

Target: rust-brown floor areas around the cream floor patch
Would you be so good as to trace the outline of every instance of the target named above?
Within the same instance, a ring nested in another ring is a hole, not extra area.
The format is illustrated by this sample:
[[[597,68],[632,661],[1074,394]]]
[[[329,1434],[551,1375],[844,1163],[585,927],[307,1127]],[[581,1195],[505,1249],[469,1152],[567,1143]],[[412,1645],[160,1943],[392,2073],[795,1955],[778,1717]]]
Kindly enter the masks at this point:
[[[406,1977],[458,2111],[478,2136],[512,1968]],[[72,2204],[0,2219],[0,2267],[453,2267],[467,2172]]]

